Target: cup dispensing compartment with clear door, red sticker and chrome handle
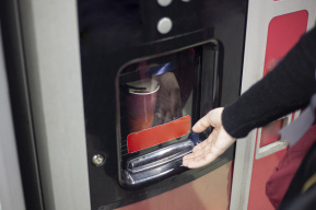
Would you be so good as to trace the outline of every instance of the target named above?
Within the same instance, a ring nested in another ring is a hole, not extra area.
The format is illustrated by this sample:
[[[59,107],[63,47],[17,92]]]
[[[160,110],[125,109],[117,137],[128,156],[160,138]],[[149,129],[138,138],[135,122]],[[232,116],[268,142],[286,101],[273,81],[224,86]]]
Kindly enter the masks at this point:
[[[118,74],[120,184],[142,186],[186,171],[203,140],[191,126],[219,101],[219,44],[131,61]]]

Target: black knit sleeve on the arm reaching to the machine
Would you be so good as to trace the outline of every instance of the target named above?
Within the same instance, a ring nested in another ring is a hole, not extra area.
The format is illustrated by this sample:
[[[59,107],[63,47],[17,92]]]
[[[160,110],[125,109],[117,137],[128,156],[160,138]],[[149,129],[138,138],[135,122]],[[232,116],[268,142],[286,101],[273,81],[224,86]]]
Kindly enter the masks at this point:
[[[284,59],[235,103],[222,121],[234,138],[306,106],[316,91],[316,27],[303,35]]]

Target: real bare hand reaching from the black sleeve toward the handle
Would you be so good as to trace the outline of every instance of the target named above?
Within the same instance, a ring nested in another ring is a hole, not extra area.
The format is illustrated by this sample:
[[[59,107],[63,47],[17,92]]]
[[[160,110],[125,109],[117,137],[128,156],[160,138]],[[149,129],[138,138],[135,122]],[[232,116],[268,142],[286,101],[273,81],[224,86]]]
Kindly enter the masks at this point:
[[[189,168],[202,167],[226,151],[235,141],[222,125],[223,107],[209,112],[192,127],[195,132],[201,132],[212,126],[211,135],[201,143],[196,145],[192,153],[183,158],[183,165]]]

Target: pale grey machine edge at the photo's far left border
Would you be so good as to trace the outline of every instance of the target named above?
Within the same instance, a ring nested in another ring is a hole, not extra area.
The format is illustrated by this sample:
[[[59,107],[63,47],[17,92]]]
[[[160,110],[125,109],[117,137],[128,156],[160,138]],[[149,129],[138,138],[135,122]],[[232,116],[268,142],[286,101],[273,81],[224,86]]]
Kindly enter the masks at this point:
[[[11,102],[3,54],[0,19],[0,210],[25,209]]]

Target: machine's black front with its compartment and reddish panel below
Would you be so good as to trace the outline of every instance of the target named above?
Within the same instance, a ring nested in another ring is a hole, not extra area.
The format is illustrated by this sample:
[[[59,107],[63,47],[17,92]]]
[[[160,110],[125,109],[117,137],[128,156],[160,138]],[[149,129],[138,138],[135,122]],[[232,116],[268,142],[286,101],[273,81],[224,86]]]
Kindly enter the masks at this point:
[[[191,126],[239,94],[246,11],[246,1],[78,1],[92,209],[229,208],[234,147],[198,170],[182,158],[210,133]],[[186,188],[208,176],[224,194]]]

